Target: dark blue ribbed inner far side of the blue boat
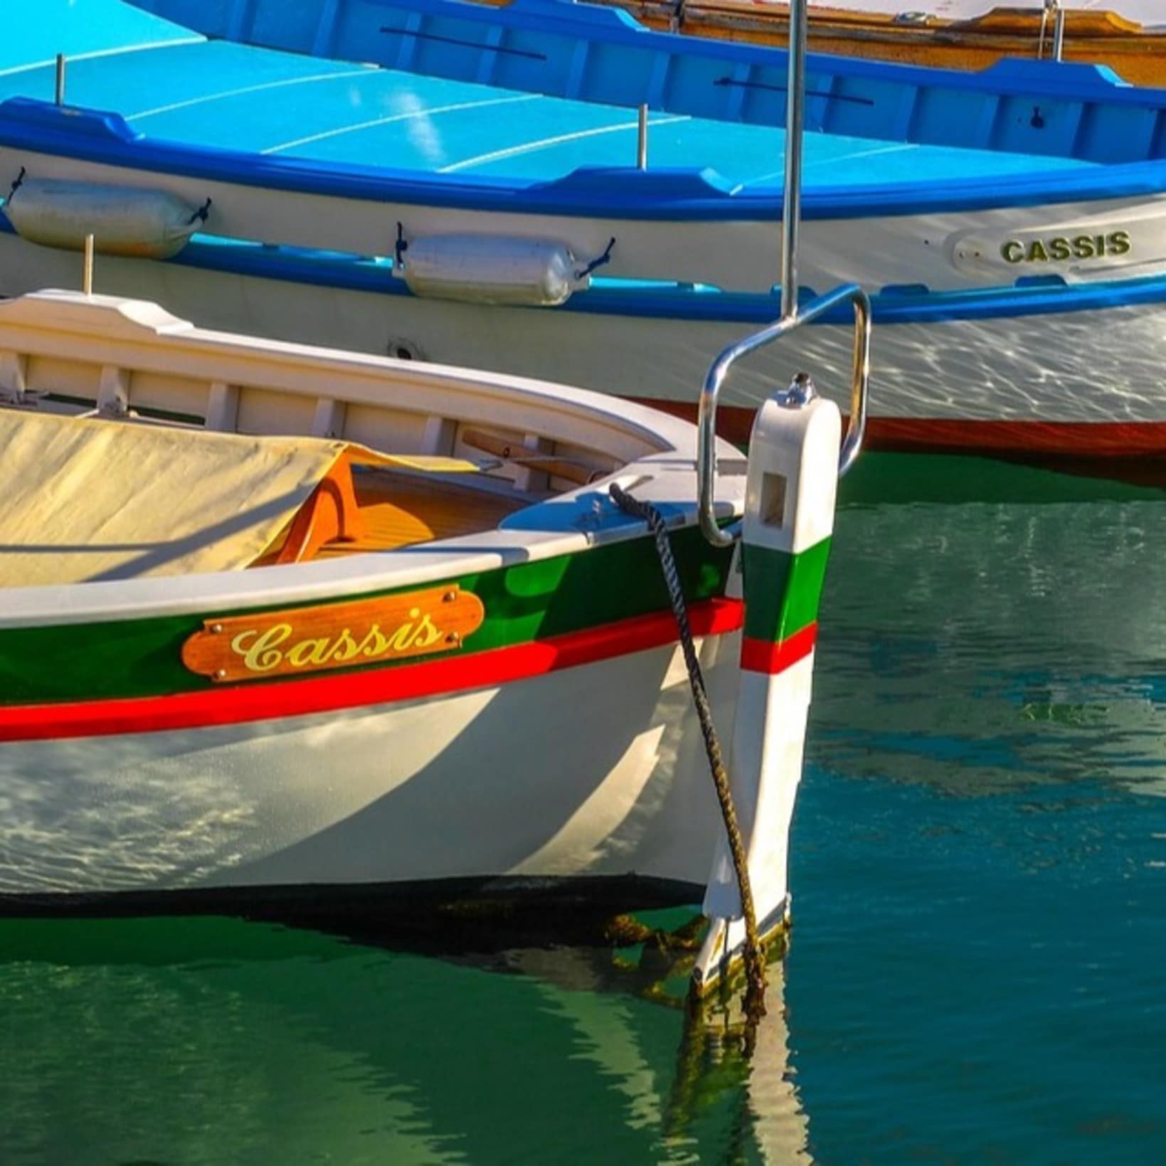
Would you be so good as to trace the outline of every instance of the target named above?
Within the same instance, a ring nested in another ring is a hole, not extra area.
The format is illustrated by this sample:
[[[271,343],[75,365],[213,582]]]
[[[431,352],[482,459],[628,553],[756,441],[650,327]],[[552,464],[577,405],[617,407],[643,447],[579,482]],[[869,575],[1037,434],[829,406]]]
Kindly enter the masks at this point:
[[[777,127],[785,50],[679,36],[564,0],[136,0],[234,43],[332,62]],[[389,23],[385,23],[391,21]],[[1166,90],[1107,66],[1004,59],[981,72],[808,58],[806,126],[848,138],[1118,166],[1166,157]]]

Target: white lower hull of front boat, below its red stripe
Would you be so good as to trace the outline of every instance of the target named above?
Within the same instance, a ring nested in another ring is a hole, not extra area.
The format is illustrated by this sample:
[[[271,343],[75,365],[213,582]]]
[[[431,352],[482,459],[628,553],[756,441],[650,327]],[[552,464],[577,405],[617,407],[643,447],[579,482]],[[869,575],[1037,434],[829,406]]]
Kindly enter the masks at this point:
[[[738,653],[701,641],[726,731]],[[9,742],[0,791],[9,904],[507,874],[647,876],[695,902],[722,829],[675,645],[279,722]]]

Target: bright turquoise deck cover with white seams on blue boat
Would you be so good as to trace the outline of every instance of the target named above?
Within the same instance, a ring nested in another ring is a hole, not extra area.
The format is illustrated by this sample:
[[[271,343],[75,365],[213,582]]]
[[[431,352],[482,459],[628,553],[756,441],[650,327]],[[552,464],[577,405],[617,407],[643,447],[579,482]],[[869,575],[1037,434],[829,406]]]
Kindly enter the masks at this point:
[[[118,0],[10,0],[0,100],[52,100],[64,51],[66,99],[113,111],[154,138],[483,177],[555,180],[585,166],[633,166],[634,108],[416,77],[209,42]],[[653,114],[649,160],[709,167],[739,187],[781,181],[784,133]],[[808,134],[807,187],[1076,169],[1089,163]]]

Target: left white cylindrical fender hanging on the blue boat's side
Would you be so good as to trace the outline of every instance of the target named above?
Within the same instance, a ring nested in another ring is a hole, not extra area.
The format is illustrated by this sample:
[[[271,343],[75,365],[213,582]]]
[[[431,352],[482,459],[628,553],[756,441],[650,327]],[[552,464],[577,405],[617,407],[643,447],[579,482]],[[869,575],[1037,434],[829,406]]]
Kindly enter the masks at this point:
[[[30,243],[80,251],[93,236],[103,255],[169,259],[206,222],[211,201],[194,208],[166,190],[96,182],[26,178],[13,183],[3,210]]]

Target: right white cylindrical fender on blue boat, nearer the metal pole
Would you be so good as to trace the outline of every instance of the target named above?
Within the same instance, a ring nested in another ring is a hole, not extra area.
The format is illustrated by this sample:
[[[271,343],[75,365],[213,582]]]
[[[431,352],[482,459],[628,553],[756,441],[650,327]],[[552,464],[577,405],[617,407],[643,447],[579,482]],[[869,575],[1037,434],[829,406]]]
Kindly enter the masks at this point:
[[[409,240],[402,274],[419,296],[553,308],[590,282],[580,266],[561,243],[441,234]]]

